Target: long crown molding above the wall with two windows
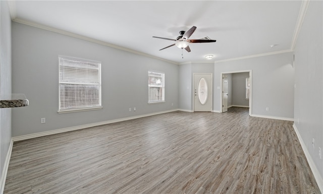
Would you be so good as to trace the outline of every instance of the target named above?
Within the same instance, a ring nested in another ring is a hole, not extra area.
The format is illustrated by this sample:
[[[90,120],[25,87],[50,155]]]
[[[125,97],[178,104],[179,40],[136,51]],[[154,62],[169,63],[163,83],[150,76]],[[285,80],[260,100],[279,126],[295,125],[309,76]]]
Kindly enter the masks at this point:
[[[43,29],[43,30],[56,32],[56,33],[59,33],[59,34],[72,36],[74,38],[79,38],[79,39],[82,39],[82,40],[86,40],[86,41],[89,41],[89,42],[94,42],[94,43],[101,44],[101,45],[104,45],[104,46],[113,47],[114,49],[126,51],[126,52],[129,52],[129,53],[134,53],[134,54],[137,54],[137,55],[157,59],[157,60],[160,60],[160,61],[165,61],[165,62],[172,63],[172,64],[175,64],[175,65],[179,65],[179,63],[174,62],[174,61],[170,61],[170,60],[166,60],[166,59],[163,59],[163,58],[155,57],[155,56],[148,55],[148,54],[145,54],[145,53],[141,53],[141,52],[138,52],[138,51],[135,51],[135,50],[127,49],[126,47],[117,46],[115,44],[107,43],[107,42],[104,42],[104,41],[101,41],[101,40],[97,40],[97,39],[90,38],[90,37],[87,37],[87,36],[83,36],[83,35],[80,35],[80,34],[68,32],[68,31],[65,31],[65,30],[58,29],[58,28],[53,28],[53,27],[50,27],[50,26],[38,24],[38,23],[35,23],[35,22],[31,22],[31,21],[27,21],[27,20],[23,20],[23,19],[19,19],[19,18],[14,18],[12,21],[20,23],[20,24],[25,24],[25,25],[28,25],[28,26],[40,28],[40,29]]]

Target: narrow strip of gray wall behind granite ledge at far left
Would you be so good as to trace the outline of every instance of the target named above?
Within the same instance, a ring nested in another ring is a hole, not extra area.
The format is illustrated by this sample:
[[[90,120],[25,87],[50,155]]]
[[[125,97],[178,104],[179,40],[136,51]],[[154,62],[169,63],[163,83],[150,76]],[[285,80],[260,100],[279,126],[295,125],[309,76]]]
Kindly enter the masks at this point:
[[[8,2],[0,1],[0,94],[11,94],[11,18]],[[16,108],[18,109],[18,108]],[[11,141],[11,108],[0,109],[0,176]]]

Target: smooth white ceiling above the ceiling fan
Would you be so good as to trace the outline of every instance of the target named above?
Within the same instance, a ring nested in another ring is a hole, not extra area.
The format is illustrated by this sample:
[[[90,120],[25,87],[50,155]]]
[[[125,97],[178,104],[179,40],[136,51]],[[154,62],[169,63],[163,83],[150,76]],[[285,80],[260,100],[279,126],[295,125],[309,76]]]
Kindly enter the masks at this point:
[[[45,25],[175,63],[210,62],[292,50],[302,1],[15,1],[12,19]],[[158,51],[179,31],[197,29],[191,43]],[[296,33],[297,34],[297,33]],[[274,47],[271,45],[277,44]]]

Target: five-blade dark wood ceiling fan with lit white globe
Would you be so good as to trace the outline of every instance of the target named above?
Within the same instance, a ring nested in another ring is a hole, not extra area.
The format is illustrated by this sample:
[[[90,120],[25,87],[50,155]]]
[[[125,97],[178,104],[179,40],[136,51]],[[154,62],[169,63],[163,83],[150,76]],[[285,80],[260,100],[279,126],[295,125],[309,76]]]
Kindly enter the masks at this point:
[[[157,37],[157,36],[152,36],[153,38],[160,38],[160,39],[165,39],[165,40],[172,40],[176,41],[174,44],[166,46],[161,50],[167,49],[168,47],[176,45],[180,49],[185,49],[187,52],[191,52],[190,47],[188,46],[189,43],[203,43],[203,42],[215,42],[217,40],[211,40],[208,37],[202,38],[202,39],[188,39],[193,32],[196,30],[196,26],[191,27],[187,32],[185,31],[180,31],[180,36],[178,36],[176,39],[171,39],[171,38],[163,38],[163,37]]]

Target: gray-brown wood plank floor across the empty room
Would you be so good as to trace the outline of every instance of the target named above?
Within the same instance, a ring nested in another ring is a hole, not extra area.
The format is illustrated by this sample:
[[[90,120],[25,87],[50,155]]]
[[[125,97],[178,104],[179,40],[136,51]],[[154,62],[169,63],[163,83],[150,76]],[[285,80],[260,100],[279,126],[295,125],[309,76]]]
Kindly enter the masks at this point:
[[[178,111],[19,141],[5,193],[320,193],[292,124]]]

